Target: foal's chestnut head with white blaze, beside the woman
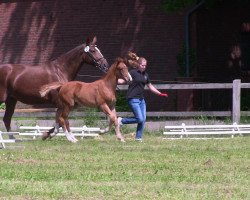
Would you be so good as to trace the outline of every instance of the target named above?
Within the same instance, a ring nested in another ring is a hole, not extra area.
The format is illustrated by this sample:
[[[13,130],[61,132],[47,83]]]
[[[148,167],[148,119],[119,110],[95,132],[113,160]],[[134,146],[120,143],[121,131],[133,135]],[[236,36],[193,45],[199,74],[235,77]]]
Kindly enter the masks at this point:
[[[124,59],[116,58],[114,65],[116,68],[116,76],[118,79],[121,78],[126,82],[132,81],[132,77],[128,72],[128,67],[125,64]]]

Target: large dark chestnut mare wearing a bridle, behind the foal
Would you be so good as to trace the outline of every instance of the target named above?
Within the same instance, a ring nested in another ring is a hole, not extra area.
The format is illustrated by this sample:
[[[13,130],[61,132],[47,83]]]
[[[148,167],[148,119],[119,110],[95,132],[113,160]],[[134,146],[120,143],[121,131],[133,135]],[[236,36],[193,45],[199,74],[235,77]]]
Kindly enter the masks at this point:
[[[31,105],[52,103],[58,107],[58,92],[51,91],[47,98],[43,98],[39,93],[42,85],[73,80],[83,63],[107,71],[108,63],[96,47],[96,41],[96,37],[88,38],[86,43],[77,46],[54,61],[41,65],[0,65],[0,104],[3,102],[6,104],[3,121],[7,131],[11,129],[11,118],[17,101]],[[53,131],[54,129],[51,129],[51,132]],[[14,138],[13,135],[9,137]]]

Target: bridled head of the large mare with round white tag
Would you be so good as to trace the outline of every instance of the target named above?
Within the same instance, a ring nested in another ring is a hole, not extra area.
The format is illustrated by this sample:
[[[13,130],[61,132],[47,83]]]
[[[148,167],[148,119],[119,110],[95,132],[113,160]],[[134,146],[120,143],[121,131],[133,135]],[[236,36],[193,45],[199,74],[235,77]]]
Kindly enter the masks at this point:
[[[96,36],[93,38],[88,38],[86,41],[86,46],[84,47],[84,56],[88,64],[94,64],[101,71],[108,71],[108,62],[102,55],[101,51],[96,46]]]

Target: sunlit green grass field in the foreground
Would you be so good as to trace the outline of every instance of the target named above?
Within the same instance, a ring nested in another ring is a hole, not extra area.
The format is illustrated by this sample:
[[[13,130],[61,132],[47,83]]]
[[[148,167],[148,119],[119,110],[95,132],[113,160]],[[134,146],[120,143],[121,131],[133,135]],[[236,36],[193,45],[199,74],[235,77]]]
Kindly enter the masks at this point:
[[[124,144],[108,134],[2,149],[0,199],[250,199],[250,137],[126,136]]]

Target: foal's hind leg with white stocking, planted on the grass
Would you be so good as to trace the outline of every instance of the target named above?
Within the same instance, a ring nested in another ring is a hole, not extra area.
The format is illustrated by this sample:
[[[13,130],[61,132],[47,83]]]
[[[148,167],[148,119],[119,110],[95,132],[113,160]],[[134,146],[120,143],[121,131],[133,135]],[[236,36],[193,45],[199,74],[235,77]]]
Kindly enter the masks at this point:
[[[63,111],[61,116],[58,119],[59,124],[63,127],[63,131],[65,133],[65,136],[70,142],[77,142],[78,140],[75,138],[75,136],[71,133],[70,127],[69,127],[69,121],[68,116],[70,113],[70,107],[68,105],[65,105],[63,107]]]

